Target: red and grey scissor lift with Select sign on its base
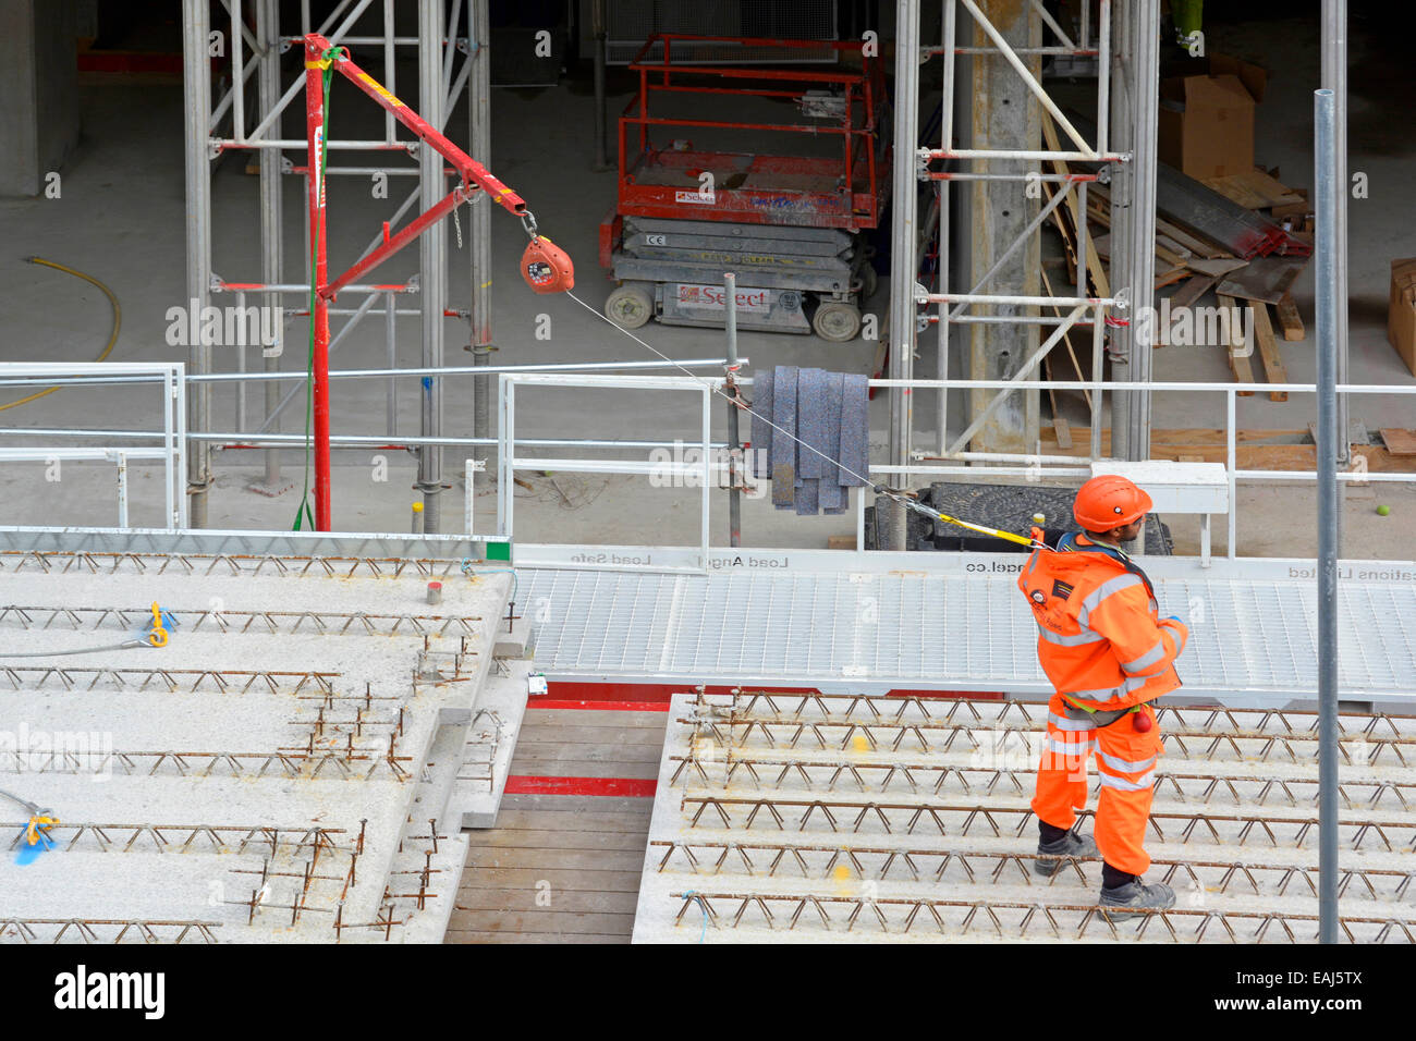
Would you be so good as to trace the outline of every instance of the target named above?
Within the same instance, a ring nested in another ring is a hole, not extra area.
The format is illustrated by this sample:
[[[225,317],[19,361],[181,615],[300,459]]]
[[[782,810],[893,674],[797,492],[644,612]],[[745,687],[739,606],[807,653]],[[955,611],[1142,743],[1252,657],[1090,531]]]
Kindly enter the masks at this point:
[[[675,61],[705,45],[835,51],[860,68]],[[619,120],[619,198],[600,224],[600,265],[620,283],[605,313],[630,329],[651,317],[722,326],[731,271],[741,327],[855,339],[875,286],[862,232],[879,224],[889,184],[881,59],[858,41],[666,34],[629,68],[639,93]],[[664,115],[670,105],[692,115]],[[724,118],[743,109],[767,116]],[[690,135],[790,142],[807,154],[700,149]]]

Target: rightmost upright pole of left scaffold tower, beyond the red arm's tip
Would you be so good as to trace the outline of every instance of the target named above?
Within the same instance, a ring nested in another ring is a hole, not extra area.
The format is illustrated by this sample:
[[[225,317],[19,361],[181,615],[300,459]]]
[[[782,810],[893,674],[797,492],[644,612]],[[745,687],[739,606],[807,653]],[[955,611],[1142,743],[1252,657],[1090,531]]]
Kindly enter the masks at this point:
[[[491,164],[491,52],[489,51],[489,0],[472,0],[467,11],[472,37],[472,74],[467,82],[467,142],[472,157],[483,166]],[[479,191],[473,198],[469,220],[469,254],[472,256],[472,364],[491,363],[491,200]],[[491,419],[491,377],[472,378],[473,433],[489,436]],[[489,449],[479,445],[473,459],[489,459]],[[490,472],[490,467],[487,467]]]

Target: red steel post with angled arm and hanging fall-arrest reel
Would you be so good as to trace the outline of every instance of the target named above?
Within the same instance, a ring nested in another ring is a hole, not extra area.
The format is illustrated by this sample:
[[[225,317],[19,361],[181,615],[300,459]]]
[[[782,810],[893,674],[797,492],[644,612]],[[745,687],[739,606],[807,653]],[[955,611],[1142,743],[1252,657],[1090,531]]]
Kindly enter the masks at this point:
[[[367,93],[385,112],[412,130],[423,144],[452,164],[462,183],[426,212],[409,221],[395,235],[384,225],[384,242],[336,279],[329,276],[326,239],[326,115],[327,91],[334,72]],[[330,530],[330,303],[336,295],[361,275],[372,271],[428,228],[446,218],[477,191],[521,218],[531,242],[521,256],[521,276],[538,293],[559,293],[575,285],[575,268],[564,249],[537,232],[535,217],[525,201],[497,180],[490,170],[453,144],[428,120],[401,102],[374,76],[361,69],[344,47],[334,47],[317,33],[304,38],[304,98],[309,143],[310,207],[310,381],[313,384],[314,428],[314,528]],[[302,504],[302,510],[303,510]]]

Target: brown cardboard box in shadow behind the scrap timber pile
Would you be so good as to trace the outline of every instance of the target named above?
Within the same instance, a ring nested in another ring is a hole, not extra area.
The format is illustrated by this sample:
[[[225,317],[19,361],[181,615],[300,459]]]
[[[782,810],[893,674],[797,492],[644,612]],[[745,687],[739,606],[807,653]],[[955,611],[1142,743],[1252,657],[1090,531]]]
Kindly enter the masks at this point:
[[[1253,170],[1255,108],[1267,74],[1222,54],[1170,71],[1160,84],[1160,160],[1195,180]]]

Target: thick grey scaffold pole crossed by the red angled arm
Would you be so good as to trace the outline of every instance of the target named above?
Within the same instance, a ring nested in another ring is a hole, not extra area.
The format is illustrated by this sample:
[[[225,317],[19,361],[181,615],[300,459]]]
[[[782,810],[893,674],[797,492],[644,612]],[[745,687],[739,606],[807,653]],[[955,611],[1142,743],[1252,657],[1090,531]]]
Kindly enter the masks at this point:
[[[433,126],[443,123],[442,88],[442,45],[443,45],[443,3],[442,0],[421,0],[418,4],[418,103],[419,113]],[[422,144],[419,156],[419,190],[423,210],[430,210],[447,194],[443,177],[443,159],[429,146]],[[446,285],[446,227],[442,221],[433,224],[418,239],[418,261],[422,272],[419,299],[423,312],[423,367],[443,365],[443,309],[447,295]],[[422,435],[442,436],[442,380],[422,378]],[[423,493],[423,531],[442,531],[439,523],[439,494],[442,493],[442,448],[422,445],[418,449],[418,490]]]

